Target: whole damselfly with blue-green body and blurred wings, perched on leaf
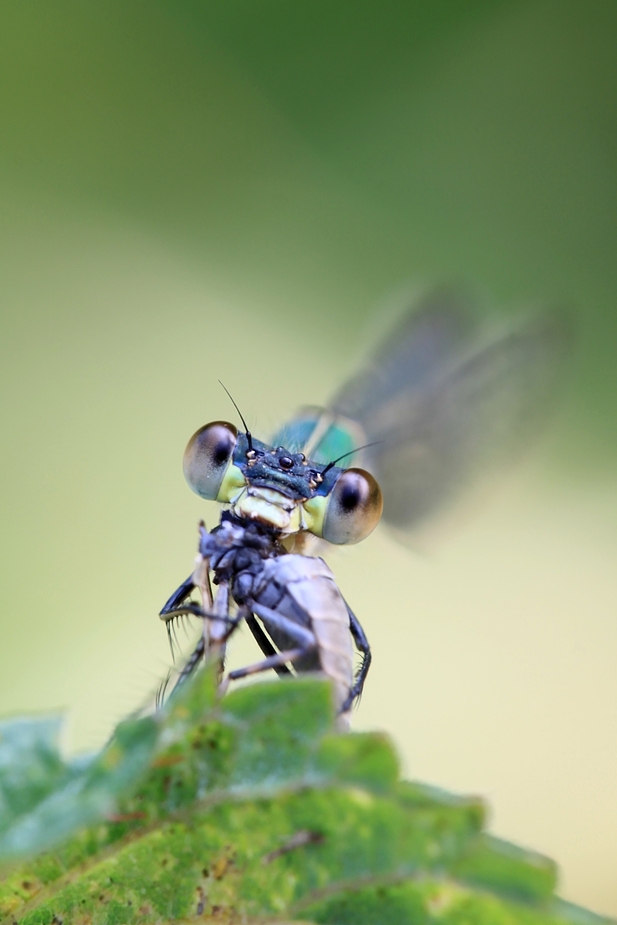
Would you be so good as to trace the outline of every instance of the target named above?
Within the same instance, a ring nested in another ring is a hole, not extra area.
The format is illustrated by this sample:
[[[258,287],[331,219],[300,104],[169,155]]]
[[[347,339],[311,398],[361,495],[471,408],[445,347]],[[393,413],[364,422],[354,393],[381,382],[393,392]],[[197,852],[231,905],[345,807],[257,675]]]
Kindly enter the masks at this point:
[[[491,333],[464,298],[434,291],[327,408],[301,410],[270,443],[242,415],[244,431],[223,421],[198,430],[184,454],[186,480],[226,509],[211,532],[201,525],[197,566],[160,614],[168,630],[182,614],[203,619],[179,681],[206,655],[222,670],[227,640],[244,621],[264,658],[228,679],[321,670],[345,717],[371,651],[314,544],[358,543],[382,512],[405,539],[511,460],[541,429],[567,343],[558,313]]]

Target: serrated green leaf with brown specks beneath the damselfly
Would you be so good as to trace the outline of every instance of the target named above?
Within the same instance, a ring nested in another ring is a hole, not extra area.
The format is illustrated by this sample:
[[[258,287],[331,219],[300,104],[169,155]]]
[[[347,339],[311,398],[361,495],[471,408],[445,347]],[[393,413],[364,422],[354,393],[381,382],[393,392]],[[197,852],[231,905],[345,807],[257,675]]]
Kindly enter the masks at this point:
[[[320,679],[219,701],[203,671],[81,764],[57,719],[6,728],[0,849],[39,852],[0,883],[11,925],[604,921],[484,834],[480,800],[399,781],[385,736],[336,734]]]

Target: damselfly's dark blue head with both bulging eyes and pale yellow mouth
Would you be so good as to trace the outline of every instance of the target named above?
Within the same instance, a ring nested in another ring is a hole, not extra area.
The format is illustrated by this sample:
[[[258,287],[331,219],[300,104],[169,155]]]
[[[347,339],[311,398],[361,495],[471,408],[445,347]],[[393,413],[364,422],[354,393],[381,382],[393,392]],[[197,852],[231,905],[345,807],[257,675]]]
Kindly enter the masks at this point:
[[[306,531],[336,545],[358,543],[381,517],[381,491],[369,472],[311,462],[225,421],[193,434],[184,475],[200,497],[230,504],[237,516],[282,535]]]

